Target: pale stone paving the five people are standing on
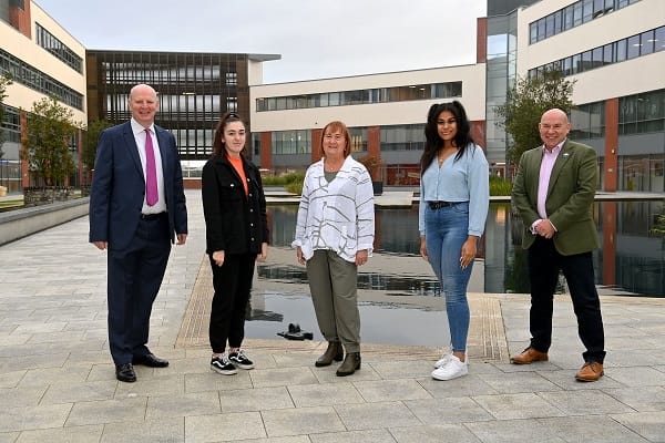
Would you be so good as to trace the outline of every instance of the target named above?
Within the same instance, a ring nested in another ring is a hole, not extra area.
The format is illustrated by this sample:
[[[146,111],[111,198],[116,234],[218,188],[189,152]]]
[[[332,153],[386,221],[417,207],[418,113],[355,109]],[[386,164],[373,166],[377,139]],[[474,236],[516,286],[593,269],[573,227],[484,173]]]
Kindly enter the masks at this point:
[[[152,316],[150,347],[171,365],[137,367],[136,383],[114,377],[106,257],[88,244],[88,218],[0,247],[0,442],[665,441],[663,299],[602,296],[607,358],[595,383],[574,380],[582,344],[566,296],[548,362],[508,363],[528,342],[528,296],[472,293],[468,377],[432,380],[440,349],[364,343],[361,370],[338,378],[335,364],[314,367],[323,343],[279,338],[248,338],[256,369],[212,372],[200,192],[187,199],[190,238],[173,249]],[[368,266],[429,271],[403,257]],[[372,292],[361,297],[383,296]]]

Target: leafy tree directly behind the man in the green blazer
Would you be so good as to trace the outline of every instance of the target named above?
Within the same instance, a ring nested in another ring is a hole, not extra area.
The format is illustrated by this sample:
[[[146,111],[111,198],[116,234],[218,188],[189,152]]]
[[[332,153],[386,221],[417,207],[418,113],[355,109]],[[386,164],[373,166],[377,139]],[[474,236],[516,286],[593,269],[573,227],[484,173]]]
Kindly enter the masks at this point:
[[[516,163],[524,151],[542,144],[538,124],[545,111],[557,107],[570,114],[575,107],[571,101],[574,83],[557,70],[518,79],[515,86],[508,91],[505,104],[497,106],[497,114],[502,117],[498,125],[512,137],[507,159]]]

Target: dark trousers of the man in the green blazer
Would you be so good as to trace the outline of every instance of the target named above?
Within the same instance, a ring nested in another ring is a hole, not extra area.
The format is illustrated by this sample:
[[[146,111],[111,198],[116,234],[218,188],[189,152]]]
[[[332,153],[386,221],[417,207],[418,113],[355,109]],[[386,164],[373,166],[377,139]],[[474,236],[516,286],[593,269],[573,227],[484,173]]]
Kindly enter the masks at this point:
[[[552,344],[552,312],[559,271],[567,282],[573,309],[577,317],[577,333],[586,351],[584,361],[602,363],[605,358],[605,338],[601,301],[594,282],[591,253],[563,256],[554,241],[536,237],[529,248],[529,279],[531,280],[531,347],[548,352]]]

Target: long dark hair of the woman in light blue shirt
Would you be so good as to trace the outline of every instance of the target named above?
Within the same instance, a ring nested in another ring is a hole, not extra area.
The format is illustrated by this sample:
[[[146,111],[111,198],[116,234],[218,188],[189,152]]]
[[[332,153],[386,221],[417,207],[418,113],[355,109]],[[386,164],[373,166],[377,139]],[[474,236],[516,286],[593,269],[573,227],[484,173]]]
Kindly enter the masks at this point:
[[[461,156],[464,155],[464,151],[467,151],[467,146],[473,143],[473,138],[471,137],[471,123],[469,123],[467,111],[464,111],[464,106],[462,106],[460,102],[456,100],[453,102],[432,104],[427,113],[427,125],[424,126],[424,151],[420,157],[420,168],[422,171],[429,167],[434,161],[441,146],[443,146],[443,140],[441,140],[439,131],[437,131],[437,120],[439,120],[439,115],[441,115],[443,111],[452,113],[457,122],[458,132],[454,135],[453,143],[459,151],[456,154],[454,159],[458,161],[461,158]]]

